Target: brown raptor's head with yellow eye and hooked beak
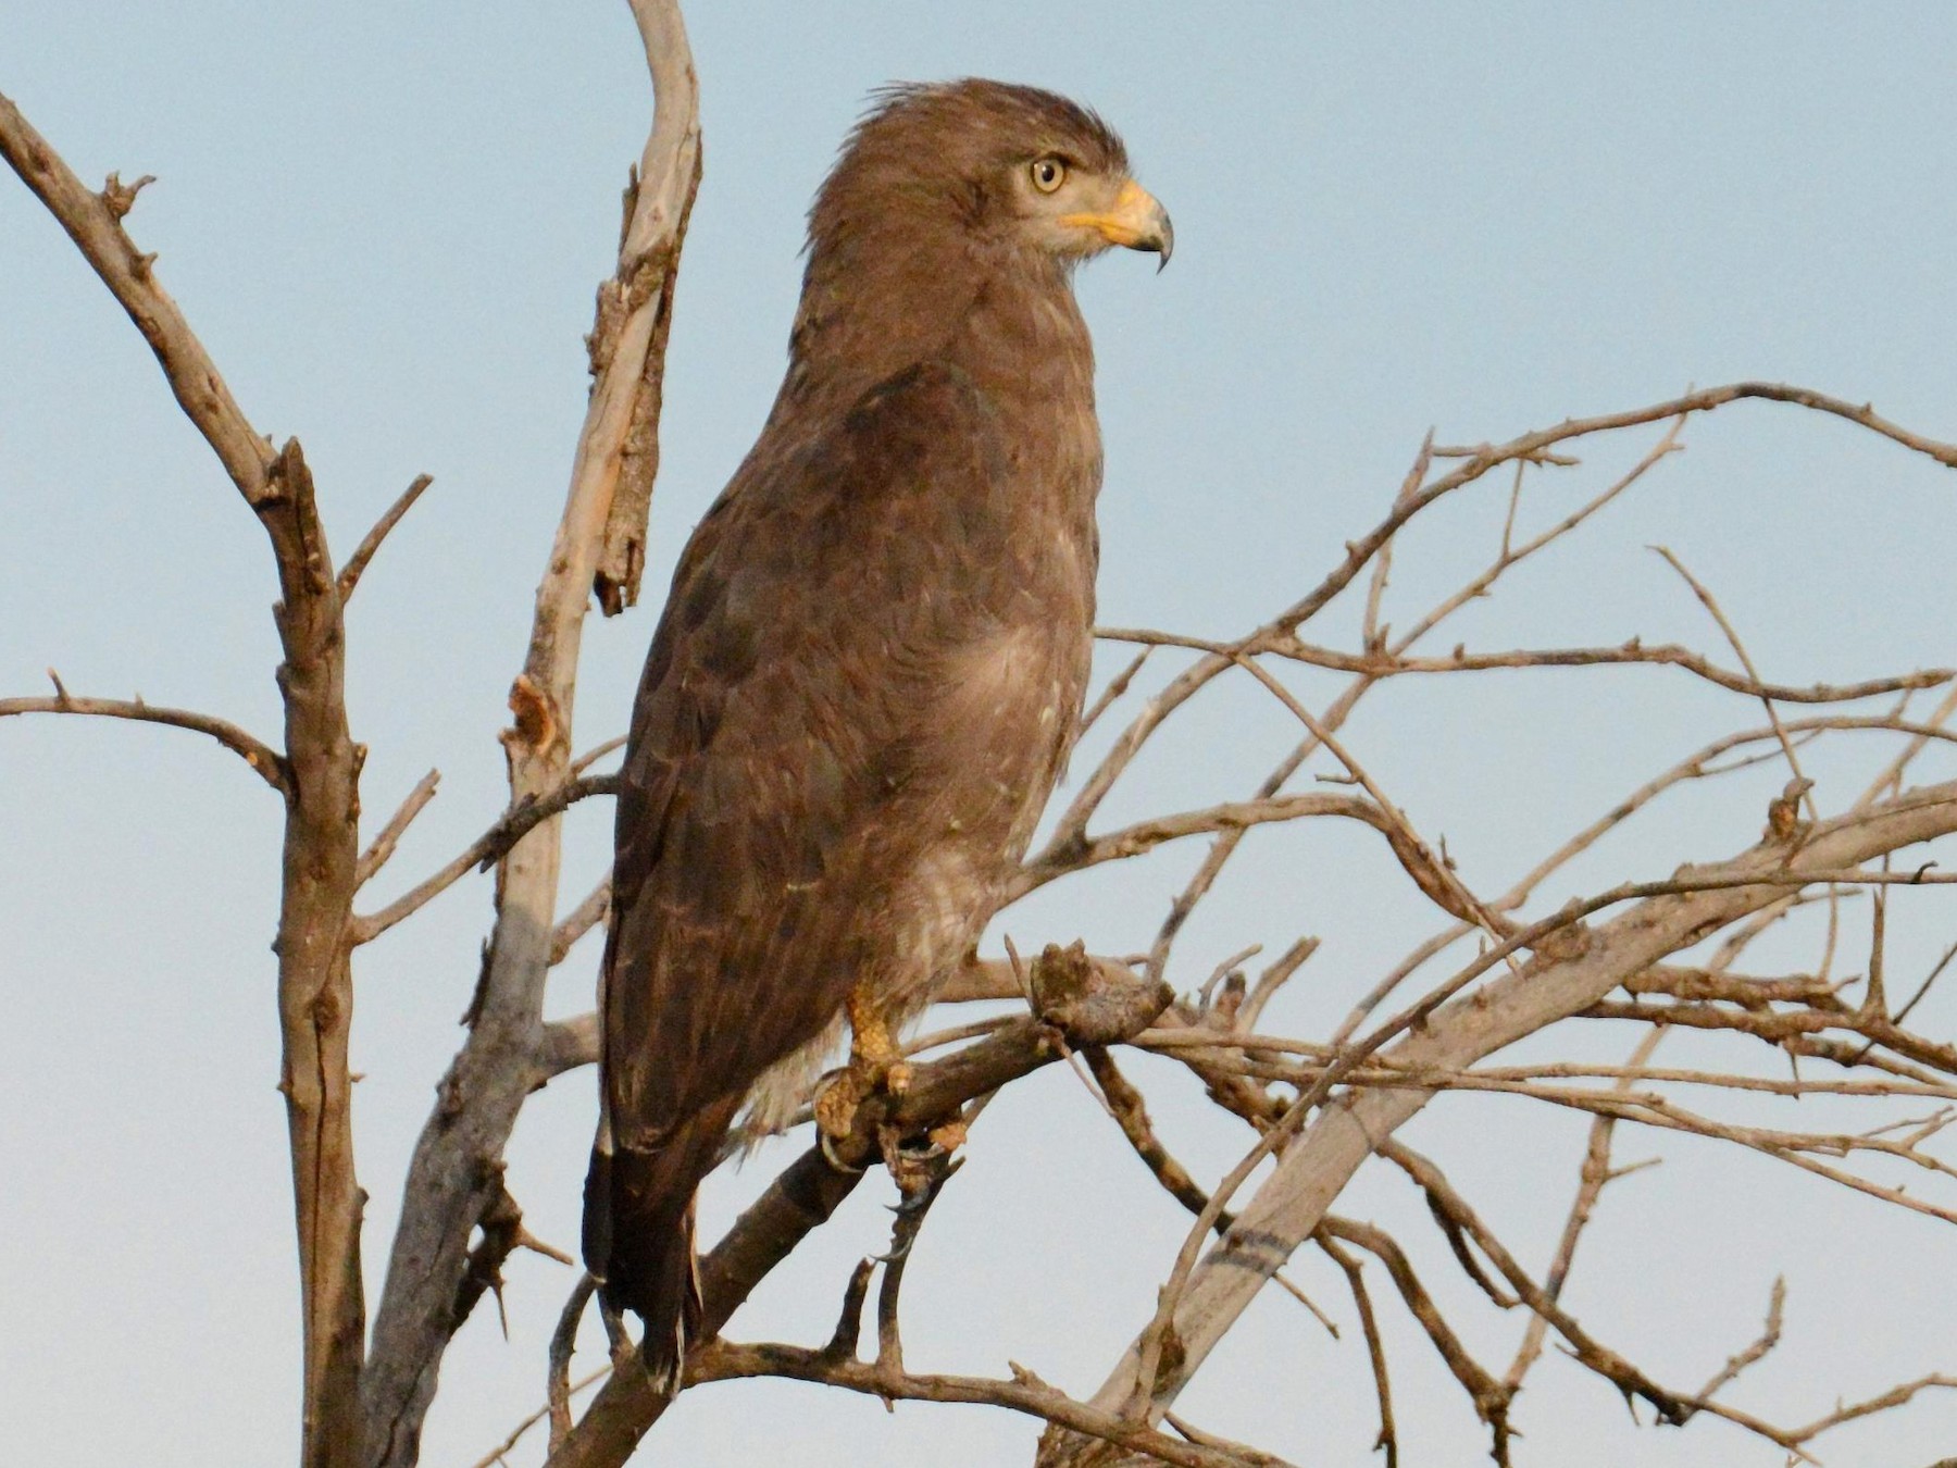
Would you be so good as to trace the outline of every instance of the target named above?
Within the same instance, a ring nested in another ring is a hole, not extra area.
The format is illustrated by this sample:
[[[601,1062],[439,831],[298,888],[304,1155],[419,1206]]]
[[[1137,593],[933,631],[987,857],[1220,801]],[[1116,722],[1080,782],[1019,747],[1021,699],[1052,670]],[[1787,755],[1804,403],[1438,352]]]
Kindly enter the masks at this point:
[[[1176,243],[1108,123],[1055,92],[986,80],[887,88],[849,135],[810,211],[810,251],[892,233],[1061,264],[1112,245],[1166,264]]]

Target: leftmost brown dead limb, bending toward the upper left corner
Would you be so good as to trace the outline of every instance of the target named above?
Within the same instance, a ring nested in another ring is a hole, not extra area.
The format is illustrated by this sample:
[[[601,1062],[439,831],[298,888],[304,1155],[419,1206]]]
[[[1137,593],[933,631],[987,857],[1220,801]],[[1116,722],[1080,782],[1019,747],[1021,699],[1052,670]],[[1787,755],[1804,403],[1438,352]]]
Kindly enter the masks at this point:
[[[278,916],[280,1090],[292,1145],[305,1315],[303,1462],[342,1468],[358,1450],[356,1394],[366,1333],[354,1178],[348,916],[358,883],[360,759],[346,728],[346,634],[313,476],[296,438],[274,448],[231,397],[155,256],[123,229],[135,200],[115,176],[96,194],[0,96],[0,157],[47,206],[149,341],[178,405],[250,505],[278,566],[272,611],[284,662],[286,844]],[[211,730],[205,730],[211,732]],[[247,754],[250,759],[250,754]],[[264,773],[264,771],[260,771]]]

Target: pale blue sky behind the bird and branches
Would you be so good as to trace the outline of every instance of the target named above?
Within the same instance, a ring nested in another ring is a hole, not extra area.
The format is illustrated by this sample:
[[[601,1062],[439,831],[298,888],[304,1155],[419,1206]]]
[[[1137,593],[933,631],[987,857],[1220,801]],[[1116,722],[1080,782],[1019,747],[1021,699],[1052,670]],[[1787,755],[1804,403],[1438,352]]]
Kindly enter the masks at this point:
[[[779,378],[802,209],[863,96],[892,78],[990,74],[1092,102],[1174,213],[1170,270],[1119,256],[1080,286],[1102,364],[1108,622],[1219,636],[1260,622],[1380,517],[1431,425],[1442,440],[1503,438],[1687,384],[1779,378],[1957,438],[1957,20],[1943,6],[695,4],[689,22],[706,182],[677,298],[654,566],[648,605],[587,636],[581,744],[620,726],[671,556]],[[350,628],[368,808],[384,814],[442,769],[440,799],[380,883],[391,895],[501,803],[493,732],[581,417],[591,288],[611,268],[648,115],[630,18],[616,2],[12,0],[0,92],[86,178],[160,178],[135,237],[160,252],[252,421],[303,438],[341,554],[413,474],[436,478]],[[1525,517],[1548,523],[1648,442],[1548,482]],[[1957,662],[1949,474],[1765,405],[1695,423],[1687,442],[1456,636],[1714,646],[1644,550],[1665,542],[1714,583],[1769,677]],[[1411,617],[1487,556],[1499,495],[1450,507],[1405,548],[1389,615]],[[0,556],[0,693],[43,689],[53,664],[78,693],[141,691],[276,734],[262,536],[135,331],[12,176]],[[1321,636],[1352,622],[1335,613]],[[1389,687],[1352,744],[1423,830],[1448,834],[1470,881],[1499,887],[1654,769],[1753,722],[1746,703],[1663,671],[1526,675]],[[1110,816],[1241,797],[1290,738],[1268,701],[1215,697]],[[1873,746],[1822,759],[1822,804],[1851,799],[1873,759]],[[1571,883],[1734,851],[1777,783],[1761,771],[1681,801]],[[0,1456],[288,1460],[296,1282],[266,951],[276,799],[194,736],[10,720],[0,828]],[[568,902],[603,869],[607,830],[595,808],[573,818]],[[1074,934],[1141,947],[1196,855],[1059,889],[1012,932],[1022,947]],[[1192,922],[1174,977],[1319,932],[1325,951],[1272,1014],[1315,1033],[1431,930],[1389,889],[1370,838],[1260,842]],[[478,879],[360,955],[372,1288],[485,914]],[[1949,941],[1951,916],[1928,895],[1898,902],[1900,971]],[[566,965],[554,1012],[589,1006],[593,963]],[[1922,1022],[1951,1033],[1949,990]],[[1630,1041],[1581,1043],[1618,1055]],[[1137,1075],[1170,1141],[1204,1176],[1223,1170],[1245,1139],[1174,1075]],[[1540,1262],[1581,1124],[1525,1116],[1442,1102],[1413,1139]],[[511,1149],[532,1227],[564,1245],[589,1125],[585,1075],[538,1096]],[[1787,1339],[1742,1403],[1804,1419],[1957,1368],[1947,1227],[1765,1163],[1663,1153],[1611,1194],[1587,1243],[1573,1304],[1601,1337],[1697,1384],[1752,1337],[1785,1268]],[[708,1216],[724,1219],[771,1161],[716,1182]],[[879,1196],[865,1188],[734,1331],[826,1333],[849,1262],[879,1245]],[[1403,1225],[1431,1284],[1466,1304],[1391,1180],[1362,1178],[1344,1208]],[[998,1372],[1012,1353],[1092,1390],[1182,1229],[1082,1088],[1049,1073],[986,1116],[933,1214],[910,1276],[910,1360]],[[1288,1300],[1260,1302],[1188,1411],[1299,1462],[1366,1464],[1350,1304],[1321,1266],[1299,1274],[1346,1341]],[[515,1345],[493,1313],[468,1325],[425,1462],[474,1462],[542,1399],[542,1335],[566,1288],[558,1266],[513,1264]],[[1481,1462],[1456,1388],[1397,1306],[1384,1313],[1405,1460]],[[1517,1331],[1479,1317],[1470,1339],[1501,1364]],[[1630,1431],[1609,1390],[1558,1360],[1519,1419],[1528,1468],[1781,1462],[1710,1421]],[[716,1466],[963,1468],[1024,1462],[1031,1431],[740,1384],[689,1396],[660,1441],[673,1462]],[[1920,1468],[1957,1450],[1957,1401],[1822,1446],[1836,1464]]]

